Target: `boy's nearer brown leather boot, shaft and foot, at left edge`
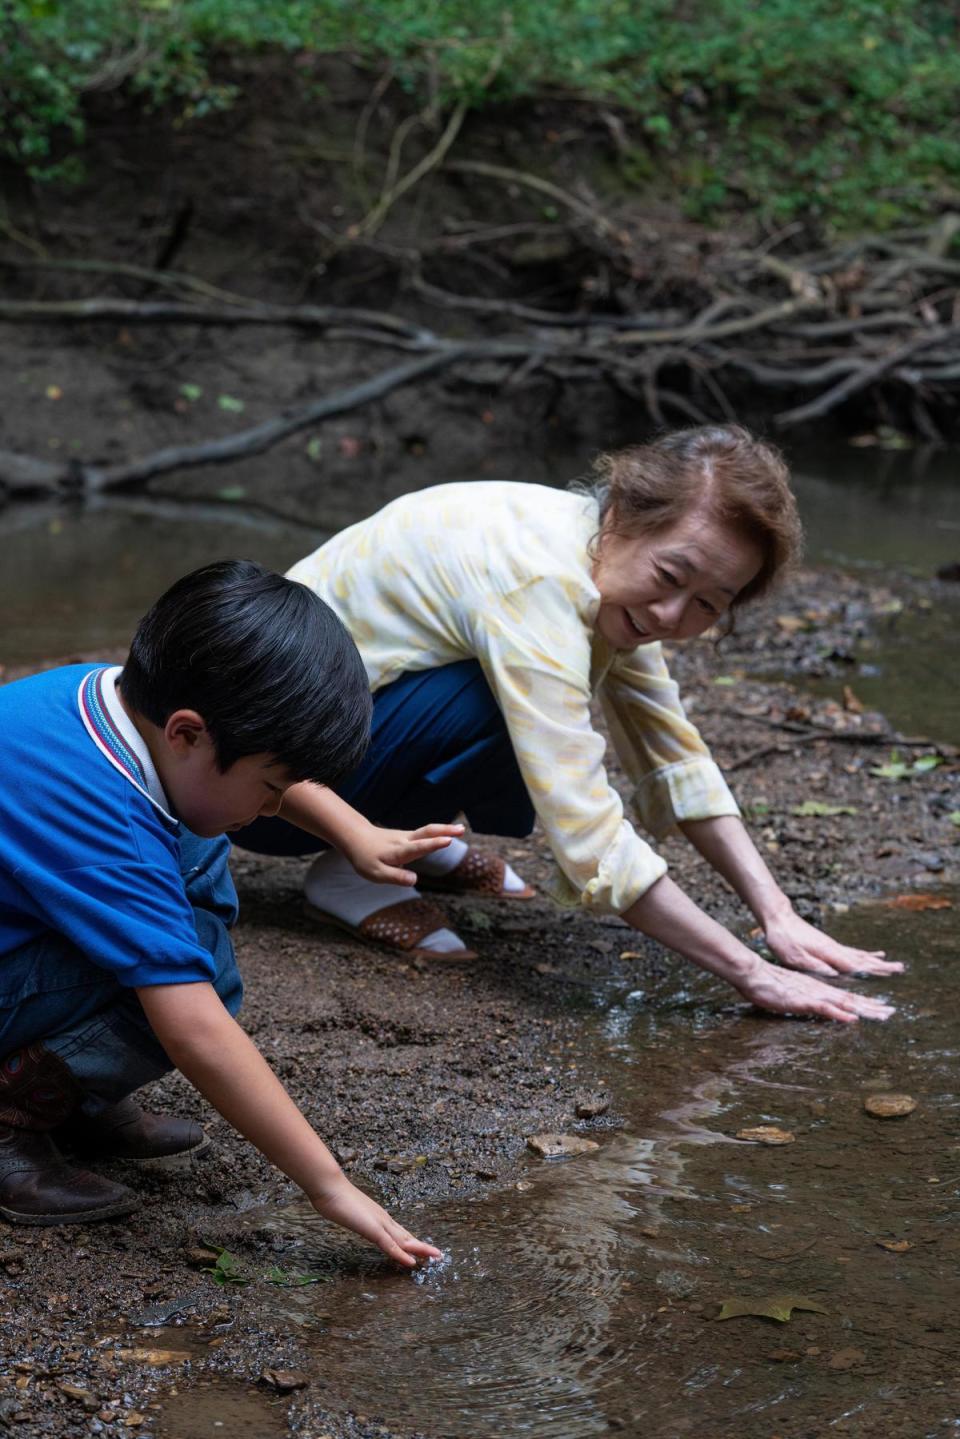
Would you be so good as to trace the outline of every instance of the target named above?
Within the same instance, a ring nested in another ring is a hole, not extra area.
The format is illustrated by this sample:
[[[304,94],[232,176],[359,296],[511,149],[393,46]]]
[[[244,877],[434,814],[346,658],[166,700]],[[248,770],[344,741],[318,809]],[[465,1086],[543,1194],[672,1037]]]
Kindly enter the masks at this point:
[[[81,1092],[40,1043],[0,1063],[0,1215],[14,1225],[81,1225],[137,1207],[122,1184],[68,1164],[43,1132],[66,1118]]]

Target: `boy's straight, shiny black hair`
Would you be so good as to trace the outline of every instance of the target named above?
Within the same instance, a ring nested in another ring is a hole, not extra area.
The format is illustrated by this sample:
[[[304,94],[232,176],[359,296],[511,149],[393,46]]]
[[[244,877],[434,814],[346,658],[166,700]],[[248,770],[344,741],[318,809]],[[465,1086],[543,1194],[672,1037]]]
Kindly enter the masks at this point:
[[[137,627],[119,681],[151,724],[196,709],[220,770],[271,754],[334,784],[370,738],[370,684],[344,625],[304,584],[249,560],[194,570]]]

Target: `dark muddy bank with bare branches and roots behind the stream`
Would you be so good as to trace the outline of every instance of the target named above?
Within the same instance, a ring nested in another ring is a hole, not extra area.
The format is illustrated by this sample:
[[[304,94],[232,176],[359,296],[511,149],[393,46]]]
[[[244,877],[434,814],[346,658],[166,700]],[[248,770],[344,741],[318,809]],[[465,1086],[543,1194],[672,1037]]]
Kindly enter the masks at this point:
[[[443,344],[517,344],[307,425],[213,481],[173,471],[164,486],[240,486],[269,504],[282,472],[309,517],[320,486],[335,505],[358,459],[374,486],[406,489],[423,484],[425,462],[453,476],[507,448],[548,465],[551,448],[609,445],[640,426],[737,413],[773,427],[797,399],[819,397],[828,376],[843,391],[819,419],[838,435],[881,446],[956,436],[956,386],[943,378],[950,262],[921,240],[892,250],[865,240],[862,253],[852,242],[833,263],[809,249],[815,237],[794,235],[771,259],[771,237],[754,235],[750,217],[708,230],[682,217],[656,176],[629,178],[616,127],[561,101],[471,115],[450,164],[427,167],[366,233],[410,96],[394,86],[368,108],[373,79],[347,59],[292,76],[284,62],[263,63],[229,79],[236,105],[187,127],[101,96],[78,189],[6,176],[0,301],[13,308],[0,324],[13,403],[0,450],[56,466],[65,492],[81,468],[227,440],[298,412],[416,358],[427,331]],[[425,124],[412,134],[410,168],[436,141]],[[744,260],[759,242],[757,265]],[[898,317],[889,334],[877,330],[874,291]],[[16,309],[99,301],[121,308],[102,321]],[[186,311],[138,318],[141,304]],[[239,322],[245,305],[271,304],[343,315]],[[191,305],[220,319],[191,321]],[[779,328],[754,345],[767,312]],[[623,348],[628,324],[662,342]],[[794,440],[803,425],[783,433]]]

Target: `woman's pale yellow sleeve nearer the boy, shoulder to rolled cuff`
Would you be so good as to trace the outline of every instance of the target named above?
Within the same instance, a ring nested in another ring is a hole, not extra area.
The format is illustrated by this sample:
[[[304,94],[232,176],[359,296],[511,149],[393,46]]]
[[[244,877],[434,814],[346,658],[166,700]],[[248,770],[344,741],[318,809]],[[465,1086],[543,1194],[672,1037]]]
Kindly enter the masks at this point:
[[[472,616],[472,648],[560,871],[560,902],[623,914],[666,871],[625,817],[590,717],[590,637],[561,580],[545,577]]]

